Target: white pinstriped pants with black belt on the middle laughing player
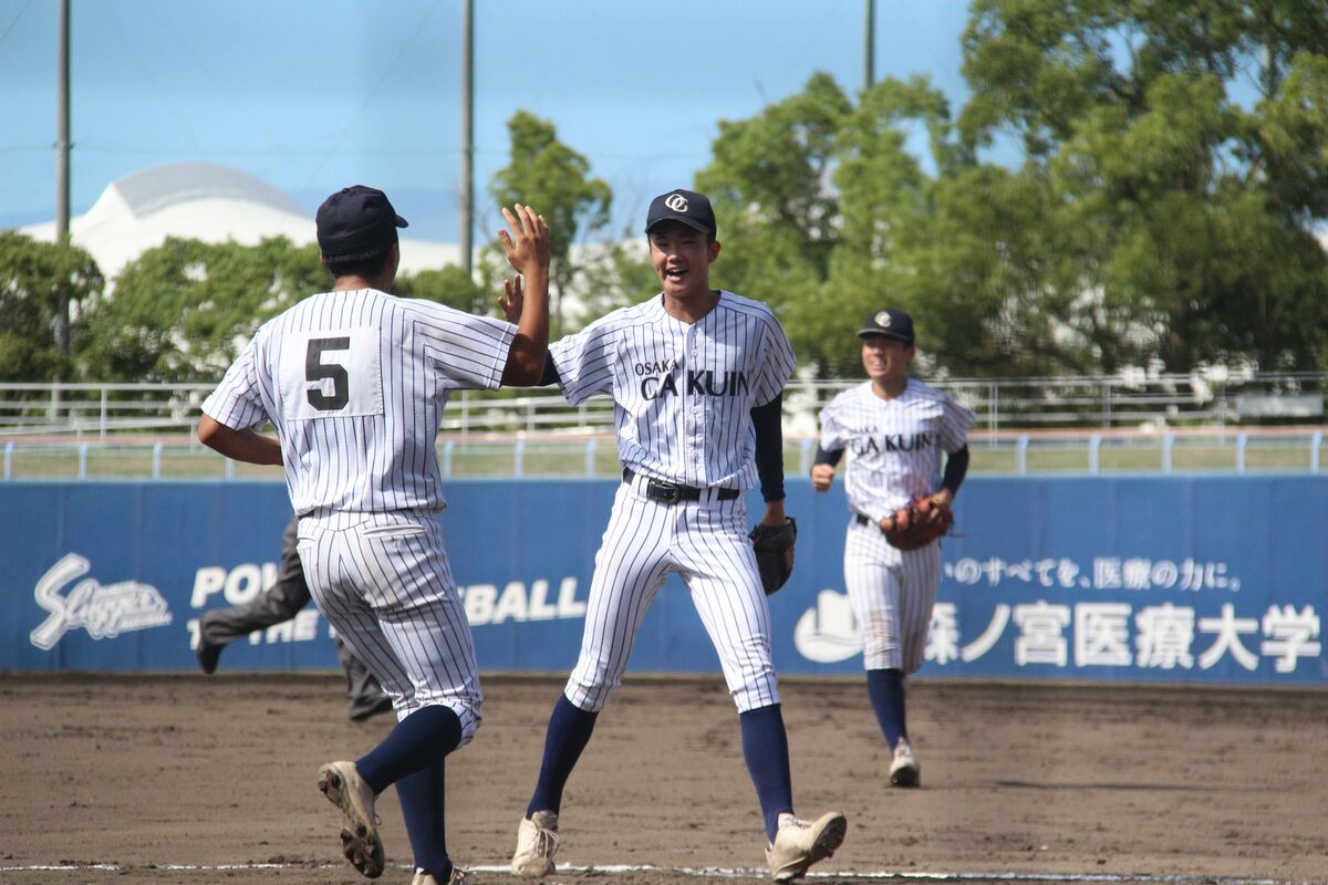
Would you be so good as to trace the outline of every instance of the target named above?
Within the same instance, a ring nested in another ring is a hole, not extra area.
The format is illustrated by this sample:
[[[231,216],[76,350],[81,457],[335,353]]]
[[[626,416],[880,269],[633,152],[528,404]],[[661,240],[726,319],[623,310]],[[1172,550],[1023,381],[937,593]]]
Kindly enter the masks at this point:
[[[746,503],[741,496],[721,502],[716,490],[705,490],[699,502],[665,504],[644,496],[644,482],[633,476],[614,499],[567,699],[582,710],[604,709],[623,682],[641,620],[676,572],[692,593],[738,711],[778,703],[770,609],[748,539]]]

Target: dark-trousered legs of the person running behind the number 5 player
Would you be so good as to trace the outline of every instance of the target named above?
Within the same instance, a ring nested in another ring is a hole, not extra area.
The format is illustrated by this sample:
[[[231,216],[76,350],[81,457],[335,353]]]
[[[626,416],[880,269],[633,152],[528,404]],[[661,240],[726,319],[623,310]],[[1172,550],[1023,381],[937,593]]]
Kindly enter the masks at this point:
[[[276,582],[243,605],[203,612],[198,617],[198,666],[203,673],[216,671],[222,649],[235,640],[290,621],[309,604],[309,584],[304,580],[304,567],[296,547],[299,520],[293,516],[282,532],[282,568]],[[392,709],[392,698],[382,690],[369,667],[336,637],[336,657],[345,670],[345,694],[351,722],[364,722],[369,716]]]

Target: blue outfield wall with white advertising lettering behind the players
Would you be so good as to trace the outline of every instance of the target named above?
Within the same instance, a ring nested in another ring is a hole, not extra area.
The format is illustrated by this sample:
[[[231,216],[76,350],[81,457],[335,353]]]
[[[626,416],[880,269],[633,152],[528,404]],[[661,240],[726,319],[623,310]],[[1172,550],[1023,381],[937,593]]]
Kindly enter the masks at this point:
[[[567,671],[611,482],[453,482],[441,520],[486,670]],[[756,506],[757,496],[749,502]],[[789,486],[797,568],[772,597],[786,674],[854,674],[842,484]],[[0,484],[0,670],[190,670],[201,612],[276,575],[276,483]],[[971,478],[944,541],[924,675],[1324,685],[1328,478]],[[1276,528],[1275,528],[1276,527]],[[228,669],[336,667],[309,606]],[[681,582],[633,671],[714,671]]]

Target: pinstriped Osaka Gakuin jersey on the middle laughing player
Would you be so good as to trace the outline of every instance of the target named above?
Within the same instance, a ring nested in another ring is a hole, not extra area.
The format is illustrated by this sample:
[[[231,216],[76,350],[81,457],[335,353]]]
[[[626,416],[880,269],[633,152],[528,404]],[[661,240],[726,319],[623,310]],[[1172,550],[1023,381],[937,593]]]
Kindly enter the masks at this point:
[[[663,296],[620,308],[548,356],[570,403],[614,397],[624,467],[700,488],[756,484],[748,413],[774,399],[795,365],[770,308],[732,292],[693,324],[669,316]]]

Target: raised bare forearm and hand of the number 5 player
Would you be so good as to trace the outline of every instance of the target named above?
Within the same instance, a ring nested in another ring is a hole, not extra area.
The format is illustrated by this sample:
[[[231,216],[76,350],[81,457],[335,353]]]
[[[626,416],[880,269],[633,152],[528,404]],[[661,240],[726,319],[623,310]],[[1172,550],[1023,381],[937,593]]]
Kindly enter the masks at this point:
[[[518,281],[505,280],[507,299],[499,303],[509,320],[519,316],[502,383],[529,387],[539,383],[548,354],[548,224],[521,203],[502,214],[511,232],[499,231],[498,238],[507,263],[521,273]]]

